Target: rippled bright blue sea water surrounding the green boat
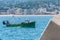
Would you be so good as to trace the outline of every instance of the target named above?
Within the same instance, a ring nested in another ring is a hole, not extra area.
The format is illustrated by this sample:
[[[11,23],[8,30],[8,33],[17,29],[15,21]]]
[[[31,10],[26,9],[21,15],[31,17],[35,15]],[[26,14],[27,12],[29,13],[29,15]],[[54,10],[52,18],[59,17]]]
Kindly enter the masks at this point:
[[[47,23],[53,16],[0,16],[0,39],[1,40],[38,40]],[[35,28],[7,27],[4,20],[10,23],[21,23],[29,19],[35,21]]]

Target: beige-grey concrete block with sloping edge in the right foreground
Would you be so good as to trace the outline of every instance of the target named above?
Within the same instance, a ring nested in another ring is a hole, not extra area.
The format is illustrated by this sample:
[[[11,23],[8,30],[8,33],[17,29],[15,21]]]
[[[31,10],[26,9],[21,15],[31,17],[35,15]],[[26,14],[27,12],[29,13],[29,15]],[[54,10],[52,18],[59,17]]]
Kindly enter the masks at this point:
[[[60,14],[52,18],[40,40],[60,40]]]

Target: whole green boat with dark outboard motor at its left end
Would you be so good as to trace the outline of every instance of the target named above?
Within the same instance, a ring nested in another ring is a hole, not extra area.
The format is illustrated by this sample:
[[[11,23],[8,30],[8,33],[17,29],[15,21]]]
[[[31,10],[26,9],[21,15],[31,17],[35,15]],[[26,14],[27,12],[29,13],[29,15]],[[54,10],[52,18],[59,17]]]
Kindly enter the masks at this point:
[[[25,22],[21,22],[18,24],[12,24],[9,21],[3,21],[3,24],[7,27],[26,27],[26,28],[34,28],[35,27],[35,21],[30,22],[29,20],[25,20]]]

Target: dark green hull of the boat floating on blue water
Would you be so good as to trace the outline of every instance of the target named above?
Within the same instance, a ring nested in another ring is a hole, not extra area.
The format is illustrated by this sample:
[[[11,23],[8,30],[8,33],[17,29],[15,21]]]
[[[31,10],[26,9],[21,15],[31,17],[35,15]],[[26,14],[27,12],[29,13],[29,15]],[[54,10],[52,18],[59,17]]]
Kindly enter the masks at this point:
[[[6,24],[7,27],[25,27],[25,28],[34,28],[35,22],[30,23],[21,23],[21,24]]]

